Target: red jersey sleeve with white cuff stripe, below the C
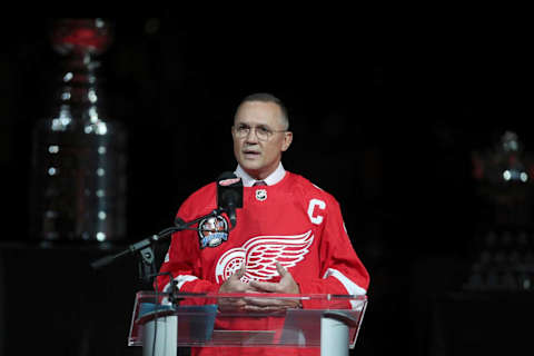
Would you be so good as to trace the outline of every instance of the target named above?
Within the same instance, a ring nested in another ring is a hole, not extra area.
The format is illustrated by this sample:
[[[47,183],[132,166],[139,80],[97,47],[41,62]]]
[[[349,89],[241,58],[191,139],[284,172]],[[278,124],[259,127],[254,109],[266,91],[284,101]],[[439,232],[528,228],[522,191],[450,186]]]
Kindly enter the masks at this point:
[[[369,274],[354,250],[339,204],[332,196],[325,200],[327,214],[318,229],[320,275],[293,277],[301,294],[366,295]]]

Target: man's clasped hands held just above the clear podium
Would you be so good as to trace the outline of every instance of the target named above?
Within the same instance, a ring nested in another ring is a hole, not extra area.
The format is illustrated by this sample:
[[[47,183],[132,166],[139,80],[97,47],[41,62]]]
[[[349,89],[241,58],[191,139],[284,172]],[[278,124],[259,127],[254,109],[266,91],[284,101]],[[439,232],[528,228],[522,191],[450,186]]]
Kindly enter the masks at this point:
[[[245,276],[246,266],[230,276],[219,288],[219,293],[276,293],[276,294],[299,294],[297,283],[279,263],[276,263],[276,269],[280,275],[278,283],[250,280],[241,281]],[[222,312],[246,310],[246,312],[280,312],[288,308],[299,308],[300,300],[290,298],[219,298],[219,309]]]

